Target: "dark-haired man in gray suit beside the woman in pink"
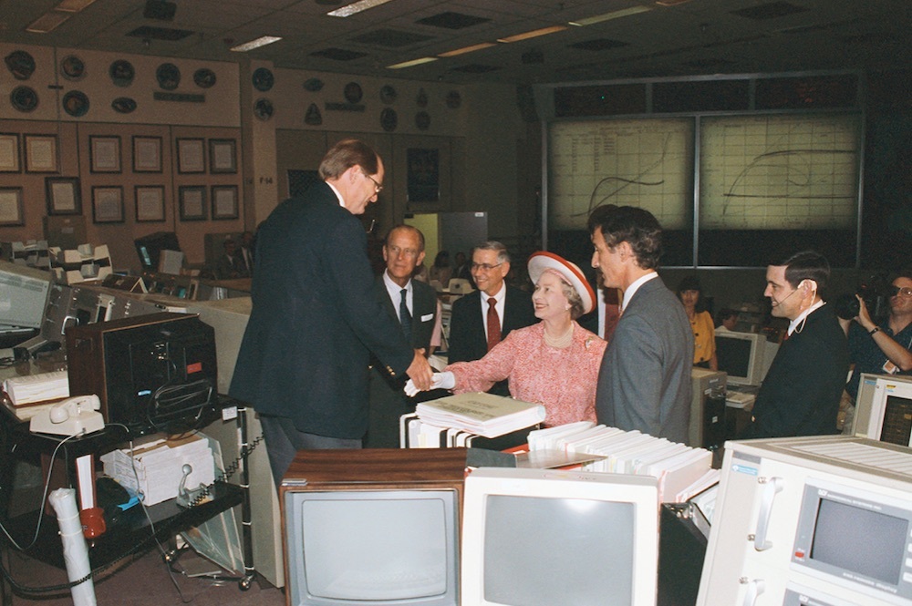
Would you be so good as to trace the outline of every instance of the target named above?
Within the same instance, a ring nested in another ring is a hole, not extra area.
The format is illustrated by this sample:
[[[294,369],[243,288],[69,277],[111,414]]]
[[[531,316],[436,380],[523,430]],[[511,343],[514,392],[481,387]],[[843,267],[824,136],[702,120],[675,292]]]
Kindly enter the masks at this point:
[[[684,307],[658,277],[662,228],[648,211],[613,204],[589,216],[592,266],[624,290],[620,321],[602,358],[599,423],[686,442],[693,332]]]

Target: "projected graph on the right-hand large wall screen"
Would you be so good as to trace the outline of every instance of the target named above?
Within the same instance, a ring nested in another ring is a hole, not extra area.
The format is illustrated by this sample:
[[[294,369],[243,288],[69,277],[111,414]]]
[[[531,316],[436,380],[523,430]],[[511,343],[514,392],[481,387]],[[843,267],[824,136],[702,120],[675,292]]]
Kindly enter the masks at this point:
[[[851,229],[856,115],[703,118],[701,230]]]

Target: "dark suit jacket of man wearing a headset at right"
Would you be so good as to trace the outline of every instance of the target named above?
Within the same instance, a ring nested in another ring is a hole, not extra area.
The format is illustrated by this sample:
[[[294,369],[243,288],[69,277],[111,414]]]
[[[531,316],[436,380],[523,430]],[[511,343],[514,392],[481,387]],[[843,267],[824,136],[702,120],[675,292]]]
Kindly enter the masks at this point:
[[[800,333],[782,342],[741,438],[839,433],[836,415],[849,370],[848,344],[832,305],[807,316]]]

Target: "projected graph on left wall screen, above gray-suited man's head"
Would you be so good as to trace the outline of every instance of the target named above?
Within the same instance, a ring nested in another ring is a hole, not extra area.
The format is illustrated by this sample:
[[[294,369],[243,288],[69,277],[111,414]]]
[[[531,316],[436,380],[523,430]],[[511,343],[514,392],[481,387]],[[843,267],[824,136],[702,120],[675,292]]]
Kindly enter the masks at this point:
[[[555,122],[548,139],[548,216],[554,230],[585,230],[602,204],[637,206],[665,229],[690,223],[693,119]]]

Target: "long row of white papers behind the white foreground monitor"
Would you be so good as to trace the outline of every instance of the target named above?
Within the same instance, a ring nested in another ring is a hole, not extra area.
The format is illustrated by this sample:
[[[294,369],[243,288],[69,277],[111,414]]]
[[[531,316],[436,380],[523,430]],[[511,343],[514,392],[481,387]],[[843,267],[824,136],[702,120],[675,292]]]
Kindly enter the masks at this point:
[[[686,501],[712,477],[712,453],[705,448],[589,421],[530,432],[529,450],[536,449],[604,455],[583,468],[658,478],[659,503]]]

